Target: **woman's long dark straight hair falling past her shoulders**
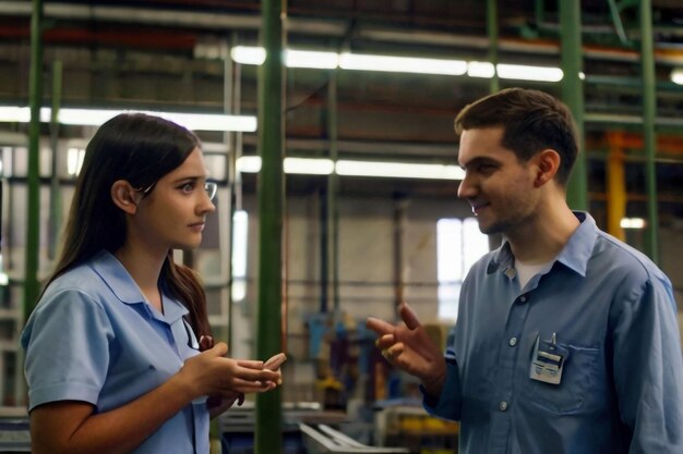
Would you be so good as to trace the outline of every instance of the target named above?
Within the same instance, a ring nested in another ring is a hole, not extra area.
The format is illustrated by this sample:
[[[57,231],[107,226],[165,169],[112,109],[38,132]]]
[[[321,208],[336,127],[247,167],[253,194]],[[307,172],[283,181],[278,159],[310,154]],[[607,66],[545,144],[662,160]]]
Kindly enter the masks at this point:
[[[62,251],[46,287],[99,250],[113,254],[125,242],[125,217],[111,200],[116,181],[148,187],[197,147],[201,142],[194,133],[158,116],[123,113],[104,123],[85,150]],[[172,250],[161,267],[159,284],[185,305],[195,334],[209,335],[204,289],[192,269],[173,261]]]

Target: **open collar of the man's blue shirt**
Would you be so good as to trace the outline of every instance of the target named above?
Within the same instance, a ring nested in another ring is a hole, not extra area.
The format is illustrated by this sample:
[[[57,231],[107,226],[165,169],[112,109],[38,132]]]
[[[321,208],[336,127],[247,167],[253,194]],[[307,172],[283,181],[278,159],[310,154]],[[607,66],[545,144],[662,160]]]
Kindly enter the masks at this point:
[[[596,244],[598,228],[595,219],[585,211],[573,211],[578,219],[578,228],[572,233],[555,261],[563,263],[565,267],[574,270],[582,277],[586,277],[588,259],[592,254]],[[510,243],[503,240],[503,244],[493,253],[493,257],[487,267],[487,273],[491,274],[495,271],[506,271],[514,266],[515,257],[510,248]]]

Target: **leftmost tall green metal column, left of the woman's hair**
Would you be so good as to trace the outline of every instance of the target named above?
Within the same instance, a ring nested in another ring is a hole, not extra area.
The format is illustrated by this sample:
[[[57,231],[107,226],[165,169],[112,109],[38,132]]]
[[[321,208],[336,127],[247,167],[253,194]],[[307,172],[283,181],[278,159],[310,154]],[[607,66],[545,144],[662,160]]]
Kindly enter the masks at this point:
[[[40,105],[43,102],[43,0],[33,0],[31,17],[31,73],[28,124],[28,207],[26,214],[26,259],[24,266],[24,321],[36,305],[38,283],[38,235],[40,209]]]

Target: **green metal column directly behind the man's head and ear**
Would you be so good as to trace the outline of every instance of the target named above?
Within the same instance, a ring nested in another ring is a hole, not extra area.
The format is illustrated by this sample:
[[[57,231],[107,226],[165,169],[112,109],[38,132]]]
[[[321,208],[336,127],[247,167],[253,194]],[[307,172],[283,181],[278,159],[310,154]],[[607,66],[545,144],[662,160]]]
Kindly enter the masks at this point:
[[[578,157],[567,184],[567,203],[572,209],[588,209],[588,179],[584,148],[584,85],[579,77],[583,68],[582,15],[579,0],[559,0],[562,40],[562,100],[572,111],[578,133]]]

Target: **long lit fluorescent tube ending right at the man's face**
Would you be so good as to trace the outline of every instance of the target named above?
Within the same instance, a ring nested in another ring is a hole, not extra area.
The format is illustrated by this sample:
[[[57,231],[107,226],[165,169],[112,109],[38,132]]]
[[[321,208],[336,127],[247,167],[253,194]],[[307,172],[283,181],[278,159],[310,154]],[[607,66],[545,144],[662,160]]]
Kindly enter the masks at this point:
[[[335,165],[339,175],[399,179],[463,180],[465,171],[457,165],[420,164],[408,162],[347,161]]]

